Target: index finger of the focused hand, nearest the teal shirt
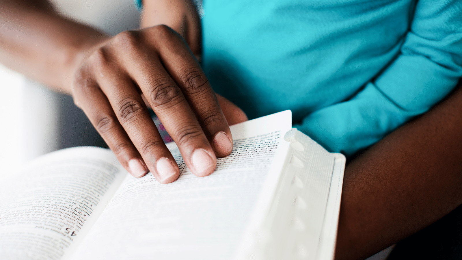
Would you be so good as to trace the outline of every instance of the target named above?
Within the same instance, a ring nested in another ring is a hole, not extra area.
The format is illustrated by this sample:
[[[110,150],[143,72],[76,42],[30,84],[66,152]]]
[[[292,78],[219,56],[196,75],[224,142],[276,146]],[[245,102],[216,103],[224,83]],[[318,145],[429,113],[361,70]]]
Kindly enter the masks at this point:
[[[153,37],[158,40],[153,43],[158,56],[188,100],[215,154],[229,155],[233,147],[231,130],[199,62],[175,31],[165,26],[155,32],[158,35]]]

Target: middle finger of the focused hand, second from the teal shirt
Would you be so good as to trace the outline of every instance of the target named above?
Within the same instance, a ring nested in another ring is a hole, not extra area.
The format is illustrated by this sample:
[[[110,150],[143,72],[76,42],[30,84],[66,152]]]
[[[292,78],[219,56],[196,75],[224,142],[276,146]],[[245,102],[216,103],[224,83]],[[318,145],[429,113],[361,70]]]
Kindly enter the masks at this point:
[[[143,52],[126,59],[130,76],[178,145],[184,161],[197,176],[206,176],[216,167],[215,153],[182,91],[165,71],[157,55]],[[141,62],[140,62],[141,61]]]

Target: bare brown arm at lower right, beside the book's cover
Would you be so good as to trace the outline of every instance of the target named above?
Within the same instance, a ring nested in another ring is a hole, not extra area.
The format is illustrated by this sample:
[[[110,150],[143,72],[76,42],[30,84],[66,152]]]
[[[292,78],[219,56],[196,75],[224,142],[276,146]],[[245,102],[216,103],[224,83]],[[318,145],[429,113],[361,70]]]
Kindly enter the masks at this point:
[[[462,203],[461,83],[346,167],[336,259],[365,259]]]

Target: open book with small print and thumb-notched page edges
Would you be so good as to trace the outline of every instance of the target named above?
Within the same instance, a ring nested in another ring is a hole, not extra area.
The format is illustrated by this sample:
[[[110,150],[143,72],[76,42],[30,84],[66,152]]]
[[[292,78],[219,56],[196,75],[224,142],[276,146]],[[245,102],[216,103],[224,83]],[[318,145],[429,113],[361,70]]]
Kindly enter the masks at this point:
[[[333,259],[345,157],[291,129],[291,111],[231,126],[196,177],[136,179],[108,149],[64,149],[0,184],[0,259]]]

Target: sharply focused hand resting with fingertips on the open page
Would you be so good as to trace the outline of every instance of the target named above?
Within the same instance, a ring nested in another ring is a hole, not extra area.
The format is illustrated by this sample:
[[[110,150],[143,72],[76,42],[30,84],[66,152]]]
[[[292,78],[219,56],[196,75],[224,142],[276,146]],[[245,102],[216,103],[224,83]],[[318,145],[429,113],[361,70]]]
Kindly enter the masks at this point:
[[[135,177],[148,169],[161,183],[179,176],[141,94],[195,175],[212,173],[216,156],[231,153],[231,132],[215,93],[187,44],[168,26],[122,32],[87,52],[81,64],[74,102]]]

